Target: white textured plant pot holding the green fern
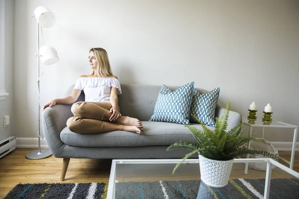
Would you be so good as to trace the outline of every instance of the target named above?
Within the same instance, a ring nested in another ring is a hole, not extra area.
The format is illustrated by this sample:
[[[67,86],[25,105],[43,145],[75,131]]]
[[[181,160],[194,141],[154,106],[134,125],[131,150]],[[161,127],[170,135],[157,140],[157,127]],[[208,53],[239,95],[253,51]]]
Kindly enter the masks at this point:
[[[234,159],[227,161],[211,160],[199,156],[200,180],[210,187],[224,187],[228,184]]]

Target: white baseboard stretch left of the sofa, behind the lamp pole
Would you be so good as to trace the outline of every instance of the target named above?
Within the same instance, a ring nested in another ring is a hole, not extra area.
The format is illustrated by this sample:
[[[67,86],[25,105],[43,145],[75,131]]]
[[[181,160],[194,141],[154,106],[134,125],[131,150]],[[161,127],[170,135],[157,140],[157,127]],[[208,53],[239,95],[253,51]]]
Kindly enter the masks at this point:
[[[32,137],[16,137],[16,148],[38,148],[38,138]],[[48,144],[45,139],[40,138],[40,148],[48,148]]]

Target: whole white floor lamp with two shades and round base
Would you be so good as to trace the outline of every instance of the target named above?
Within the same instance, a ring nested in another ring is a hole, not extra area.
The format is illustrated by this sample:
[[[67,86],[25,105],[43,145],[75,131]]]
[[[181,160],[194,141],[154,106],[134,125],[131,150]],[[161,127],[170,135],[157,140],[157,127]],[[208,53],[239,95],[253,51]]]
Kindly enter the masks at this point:
[[[38,100],[38,123],[37,123],[37,134],[38,134],[38,150],[30,151],[26,154],[26,158],[32,160],[44,159],[50,157],[52,152],[49,149],[40,149],[40,100],[39,100],[39,59],[44,65],[55,64],[59,61],[57,51],[51,45],[43,45],[39,49],[39,25],[41,27],[49,28],[52,27],[56,22],[55,15],[46,7],[38,6],[34,10],[34,15],[32,17],[36,18],[37,21],[37,71],[38,71],[38,80],[37,80],[37,100]],[[42,75],[42,74],[41,74]]]

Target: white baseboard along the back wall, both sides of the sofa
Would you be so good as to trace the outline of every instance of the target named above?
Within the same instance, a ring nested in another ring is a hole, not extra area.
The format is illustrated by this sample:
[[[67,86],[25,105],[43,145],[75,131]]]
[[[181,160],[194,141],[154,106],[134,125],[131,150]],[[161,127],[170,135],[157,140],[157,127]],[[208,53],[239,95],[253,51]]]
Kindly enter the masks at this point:
[[[291,151],[292,142],[272,142],[278,151]],[[45,139],[40,139],[40,147],[48,148]],[[17,137],[16,148],[38,148],[38,138]],[[296,151],[299,151],[299,142],[296,143]]]

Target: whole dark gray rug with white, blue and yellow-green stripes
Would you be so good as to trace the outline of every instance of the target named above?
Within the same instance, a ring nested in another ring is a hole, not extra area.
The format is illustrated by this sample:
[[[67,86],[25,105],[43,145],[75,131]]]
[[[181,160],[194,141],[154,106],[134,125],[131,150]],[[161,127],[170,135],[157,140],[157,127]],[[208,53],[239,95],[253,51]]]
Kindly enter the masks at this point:
[[[200,181],[117,183],[116,199],[263,199],[265,179],[233,179],[224,188]],[[18,184],[4,199],[105,199],[107,183]],[[299,179],[272,179],[270,199],[299,199]]]

